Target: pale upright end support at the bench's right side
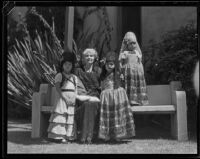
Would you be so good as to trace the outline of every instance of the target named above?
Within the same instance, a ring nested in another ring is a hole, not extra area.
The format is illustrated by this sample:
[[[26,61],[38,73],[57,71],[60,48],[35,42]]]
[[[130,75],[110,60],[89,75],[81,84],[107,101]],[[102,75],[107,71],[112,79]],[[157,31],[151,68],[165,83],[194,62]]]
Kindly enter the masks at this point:
[[[176,91],[176,113],[171,115],[171,134],[179,141],[188,140],[186,95]]]

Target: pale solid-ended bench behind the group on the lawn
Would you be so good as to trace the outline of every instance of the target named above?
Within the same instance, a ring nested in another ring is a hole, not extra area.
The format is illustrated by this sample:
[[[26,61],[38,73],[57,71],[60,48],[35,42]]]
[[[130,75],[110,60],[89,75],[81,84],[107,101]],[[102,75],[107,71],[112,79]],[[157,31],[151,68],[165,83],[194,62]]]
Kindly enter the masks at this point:
[[[133,106],[134,114],[170,114],[171,135],[173,138],[188,140],[186,93],[181,83],[172,81],[169,85],[148,85],[149,105]],[[32,138],[44,135],[48,127],[48,117],[58,98],[55,87],[41,84],[39,92],[32,96]]]

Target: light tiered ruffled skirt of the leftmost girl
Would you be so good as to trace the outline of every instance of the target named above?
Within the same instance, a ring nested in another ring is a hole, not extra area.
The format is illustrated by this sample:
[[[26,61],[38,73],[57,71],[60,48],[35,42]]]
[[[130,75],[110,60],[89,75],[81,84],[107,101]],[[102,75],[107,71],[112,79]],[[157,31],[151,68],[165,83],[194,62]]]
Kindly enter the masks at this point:
[[[67,95],[67,93],[65,94]],[[75,140],[77,138],[74,99],[71,101],[69,100],[68,106],[63,99],[58,99],[51,113],[47,131],[48,138],[68,140]]]

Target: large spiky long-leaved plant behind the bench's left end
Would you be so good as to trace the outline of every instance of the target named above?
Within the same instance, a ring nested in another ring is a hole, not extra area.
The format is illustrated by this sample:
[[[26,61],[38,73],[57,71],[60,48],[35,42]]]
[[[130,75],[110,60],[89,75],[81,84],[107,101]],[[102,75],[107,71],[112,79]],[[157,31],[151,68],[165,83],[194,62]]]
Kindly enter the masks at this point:
[[[41,83],[54,85],[63,50],[45,19],[35,10],[27,14],[29,18],[38,18],[45,30],[43,34],[35,30],[33,37],[28,24],[24,25],[27,37],[23,41],[16,39],[13,49],[8,51],[8,100],[30,108],[31,96]]]

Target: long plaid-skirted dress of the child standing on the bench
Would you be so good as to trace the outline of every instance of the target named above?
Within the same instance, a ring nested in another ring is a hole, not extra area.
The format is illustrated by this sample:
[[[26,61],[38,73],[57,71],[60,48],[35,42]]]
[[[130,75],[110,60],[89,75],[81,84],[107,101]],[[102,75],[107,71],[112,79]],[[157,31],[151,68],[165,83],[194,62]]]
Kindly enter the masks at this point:
[[[122,58],[122,56],[121,56]],[[124,56],[125,64],[122,67],[124,85],[131,105],[147,105],[147,88],[142,62],[138,61],[136,53],[129,52]]]

